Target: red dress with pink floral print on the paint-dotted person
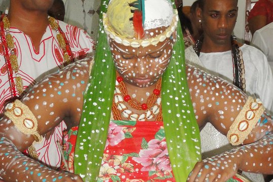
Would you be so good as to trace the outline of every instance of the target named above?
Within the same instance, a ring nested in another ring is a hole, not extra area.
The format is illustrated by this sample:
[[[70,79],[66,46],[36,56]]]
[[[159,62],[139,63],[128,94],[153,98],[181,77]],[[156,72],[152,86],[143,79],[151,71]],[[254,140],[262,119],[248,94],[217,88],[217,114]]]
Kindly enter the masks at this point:
[[[65,135],[65,159],[73,172],[77,127]],[[175,181],[163,122],[110,121],[98,181]]]

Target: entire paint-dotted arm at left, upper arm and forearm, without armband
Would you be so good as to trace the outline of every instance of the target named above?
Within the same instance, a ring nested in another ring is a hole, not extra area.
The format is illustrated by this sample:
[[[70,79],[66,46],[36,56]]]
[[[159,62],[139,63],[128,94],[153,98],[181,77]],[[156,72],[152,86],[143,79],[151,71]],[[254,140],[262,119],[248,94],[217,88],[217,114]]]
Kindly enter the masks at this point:
[[[89,76],[89,62],[72,64],[58,73],[51,74],[36,84],[21,100],[36,116],[41,135],[54,129],[62,120],[66,122],[68,129],[79,125],[83,105],[82,93]],[[24,156],[21,152],[32,144],[33,136],[23,134],[7,116],[2,116],[0,153],[6,155],[0,164],[3,169],[0,179],[42,181],[46,177],[46,181],[54,181],[54,178],[59,181],[82,181],[76,174],[54,171]]]

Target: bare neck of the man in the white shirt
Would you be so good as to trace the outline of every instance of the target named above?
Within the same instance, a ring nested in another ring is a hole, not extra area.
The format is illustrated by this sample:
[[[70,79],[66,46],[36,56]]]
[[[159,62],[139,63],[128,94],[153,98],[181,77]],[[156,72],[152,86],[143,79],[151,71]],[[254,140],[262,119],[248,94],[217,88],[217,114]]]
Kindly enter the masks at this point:
[[[210,39],[206,39],[206,37],[204,37],[201,52],[202,53],[220,53],[220,52],[230,51],[231,49],[232,49],[231,39],[228,39],[226,43],[216,44]]]

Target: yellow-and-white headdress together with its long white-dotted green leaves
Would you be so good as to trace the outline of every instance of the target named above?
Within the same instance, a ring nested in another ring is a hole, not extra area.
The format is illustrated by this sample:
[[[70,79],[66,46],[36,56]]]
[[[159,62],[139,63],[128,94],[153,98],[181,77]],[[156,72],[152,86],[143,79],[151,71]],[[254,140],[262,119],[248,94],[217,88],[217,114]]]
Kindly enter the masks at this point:
[[[115,67],[109,38],[136,48],[155,45],[176,31],[172,58],[162,77],[161,90],[164,129],[176,181],[186,181],[193,166],[201,160],[199,126],[186,81],[182,30],[177,26],[177,10],[172,8],[173,5],[169,0],[111,0],[109,5],[107,0],[102,1],[98,43],[74,155],[75,173],[85,181],[96,181],[99,175],[111,115]],[[145,12],[141,20],[138,19],[140,8]],[[138,13],[134,16],[135,12]],[[134,18],[137,19],[135,25]],[[139,24],[143,30],[139,29]],[[167,29],[151,37],[141,33],[157,27]]]

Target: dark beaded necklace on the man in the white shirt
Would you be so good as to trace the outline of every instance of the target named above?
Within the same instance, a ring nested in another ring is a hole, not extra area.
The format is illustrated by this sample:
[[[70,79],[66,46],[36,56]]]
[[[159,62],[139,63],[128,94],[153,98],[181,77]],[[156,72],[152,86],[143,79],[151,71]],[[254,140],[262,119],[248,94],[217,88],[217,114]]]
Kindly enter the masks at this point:
[[[202,49],[204,35],[201,35],[196,41],[193,49],[200,56]],[[245,79],[245,65],[243,60],[243,53],[236,42],[236,36],[231,36],[231,54],[232,54],[232,64],[233,64],[233,84],[238,86],[243,92],[246,92],[246,79]]]

